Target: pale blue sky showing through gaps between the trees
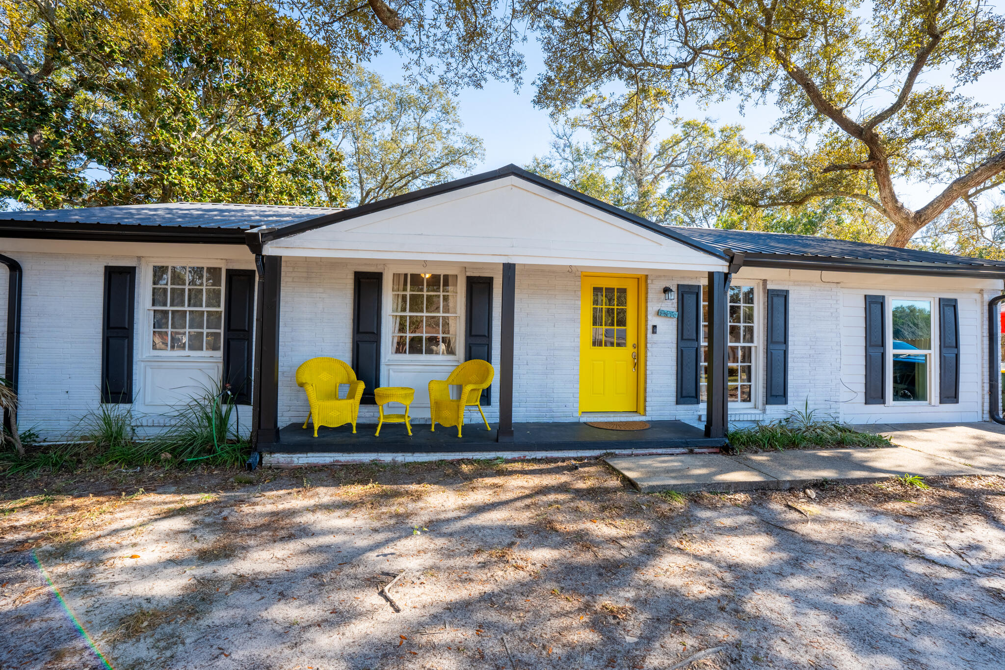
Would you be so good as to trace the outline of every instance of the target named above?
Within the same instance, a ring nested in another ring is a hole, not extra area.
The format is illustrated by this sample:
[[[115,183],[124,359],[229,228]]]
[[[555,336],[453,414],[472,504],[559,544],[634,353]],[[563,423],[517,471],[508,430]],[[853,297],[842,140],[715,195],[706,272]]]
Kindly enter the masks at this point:
[[[544,70],[542,53],[533,38],[526,43],[527,70],[525,83],[515,92],[511,82],[488,81],[483,88],[466,88],[458,92],[460,115],[464,130],[479,136],[484,141],[485,158],[475,170],[492,170],[510,163],[523,166],[535,155],[548,153],[552,140],[548,113],[534,106],[535,76]],[[400,60],[395,54],[385,55],[367,65],[379,72],[388,82],[401,80],[403,74]],[[929,81],[937,80],[938,74],[929,74]],[[949,83],[949,81],[947,81]],[[978,84],[961,89],[977,97],[991,107],[1005,104],[1005,71],[998,70],[985,74]],[[722,124],[741,124],[745,134],[752,141],[769,145],[778,144],[778,139],[769,133],[778,109],[772,104],[748,106],[741,115],[736,101],[724,101],[710,106],[698,105],[685,100],[676,113],[689,119],[706,117]],[[911,207],[920,207],[931,197],[931,189],[925,185],[900,185],[901,198]]]

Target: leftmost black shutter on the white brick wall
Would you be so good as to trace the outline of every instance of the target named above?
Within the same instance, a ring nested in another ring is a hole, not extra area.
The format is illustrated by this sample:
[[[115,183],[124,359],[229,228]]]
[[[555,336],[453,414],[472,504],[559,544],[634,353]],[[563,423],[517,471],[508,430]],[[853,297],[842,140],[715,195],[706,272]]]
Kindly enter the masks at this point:
[[[105,267],[102,316],[102,402],[133,402],[133,324],[136,268]]]

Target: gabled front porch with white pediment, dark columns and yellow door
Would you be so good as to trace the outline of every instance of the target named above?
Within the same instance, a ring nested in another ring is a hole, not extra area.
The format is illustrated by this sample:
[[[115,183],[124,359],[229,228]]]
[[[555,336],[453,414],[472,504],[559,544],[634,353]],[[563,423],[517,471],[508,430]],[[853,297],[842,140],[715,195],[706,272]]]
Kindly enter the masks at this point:
[[[665,453],[727,444],[732,255],[528,179],[471,184],[463,197],[427,194],[419,209],[396,201],[248,232],[259,272],[258,452]],[[706,281],[702,301],[695,287]],[[672,287],[681,287],[676,321]],[[343,426],[315,439],[300,428],[309,410],[295,374],[316,357],[345,362],[365,384],[356,435]],[[458,439],[416,424],[411,438],[400,426],[373,435],[374,390],[413,389],[410,413],[428,420],[428,384],[471,360],[494,371],[482,395],[494,430],[471,422]],[[693,421],[701,406],[703,430]],[[651,425],[617,432],[580,423],[593,414]]]

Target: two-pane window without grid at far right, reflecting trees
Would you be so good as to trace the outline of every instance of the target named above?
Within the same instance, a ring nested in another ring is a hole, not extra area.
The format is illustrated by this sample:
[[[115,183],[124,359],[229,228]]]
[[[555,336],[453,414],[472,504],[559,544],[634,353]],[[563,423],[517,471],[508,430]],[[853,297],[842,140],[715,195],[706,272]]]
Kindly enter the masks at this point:
[[[890,300],[893,402],[928,402],[932,359],[932,301]]]

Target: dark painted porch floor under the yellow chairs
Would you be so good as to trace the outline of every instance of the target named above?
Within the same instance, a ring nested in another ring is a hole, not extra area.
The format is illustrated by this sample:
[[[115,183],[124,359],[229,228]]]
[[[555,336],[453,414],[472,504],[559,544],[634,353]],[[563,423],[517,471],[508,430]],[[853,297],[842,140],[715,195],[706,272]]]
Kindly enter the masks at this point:
[[[456,428],[412,424],[409,437],[402,424],[385,424],[380,436],[376,425],[314,429],[289,424],[279,430],[279,441],[259,446],[266,453],[429,453],[530,451],[638,451],[664,449],[714,449],[726,446],[725,439],[707,438],[705,431],[682,421],[651,421],[644,430],[621,431],[595,428],[579,422],[514,424],[513,442],[496,442],[495,424],[465,423],[463,436]]]

